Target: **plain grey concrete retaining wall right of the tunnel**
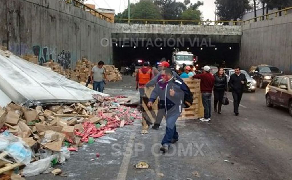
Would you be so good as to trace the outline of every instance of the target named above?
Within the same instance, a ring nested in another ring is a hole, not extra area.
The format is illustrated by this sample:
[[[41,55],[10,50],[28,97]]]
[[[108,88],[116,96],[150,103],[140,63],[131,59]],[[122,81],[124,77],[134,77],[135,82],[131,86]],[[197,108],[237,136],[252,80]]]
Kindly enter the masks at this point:
[[[269,64],[292,73],[292,14],[243,25],[240,65]]]

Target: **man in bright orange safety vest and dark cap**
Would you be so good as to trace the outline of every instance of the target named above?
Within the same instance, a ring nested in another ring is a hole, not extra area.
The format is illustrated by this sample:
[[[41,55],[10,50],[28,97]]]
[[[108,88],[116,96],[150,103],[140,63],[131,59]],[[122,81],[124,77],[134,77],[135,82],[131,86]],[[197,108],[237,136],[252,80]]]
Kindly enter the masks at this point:
[[[136,76],[136,90],[139,89],[140,104],[142,104],[142,97],[145,96],[145,85],[153,78],[152,70],[148,67],[148,63],[145,62],[143,67],[139,69]]]

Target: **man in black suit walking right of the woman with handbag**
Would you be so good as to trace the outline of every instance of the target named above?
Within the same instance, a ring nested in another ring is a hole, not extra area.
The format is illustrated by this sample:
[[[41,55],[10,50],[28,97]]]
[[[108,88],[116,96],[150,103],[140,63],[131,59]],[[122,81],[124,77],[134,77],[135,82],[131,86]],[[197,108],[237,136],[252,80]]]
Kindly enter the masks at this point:
[[[242,98],[244,86],[247,83],[245,74],[242,74],[240,71],[240,67],[234,67],[234,74],[230,76],[229,86],[232,89],[232,96],[233,96],[233,106],[234,106],[234,113],[236,116],[239,115],[238,107]]]

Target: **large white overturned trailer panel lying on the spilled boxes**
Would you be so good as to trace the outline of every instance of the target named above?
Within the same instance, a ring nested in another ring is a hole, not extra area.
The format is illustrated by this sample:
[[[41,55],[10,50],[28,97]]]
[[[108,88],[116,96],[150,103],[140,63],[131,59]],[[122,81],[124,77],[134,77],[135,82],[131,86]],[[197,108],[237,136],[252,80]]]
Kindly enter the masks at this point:
[[[47,103],[87,102],[93,94],[105,95],[67,79],[50,68],[11,55],[0,55],[0,89],[25,106]]]

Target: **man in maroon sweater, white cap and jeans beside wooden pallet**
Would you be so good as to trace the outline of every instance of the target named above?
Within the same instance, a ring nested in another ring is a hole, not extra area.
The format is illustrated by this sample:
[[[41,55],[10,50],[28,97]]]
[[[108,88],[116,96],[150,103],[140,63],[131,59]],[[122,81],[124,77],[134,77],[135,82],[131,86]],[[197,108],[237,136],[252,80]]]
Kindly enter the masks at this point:
[[[210,73],[210,67],[203,67],[203,74],[194,75],[194,79],[201,79],[201,93],[202,101],[204,106],[204,118],[201,118],[200,121],[208,122],[211,120],[211,97],[212,90],[214,87],[214,76]]]

